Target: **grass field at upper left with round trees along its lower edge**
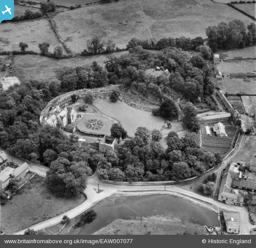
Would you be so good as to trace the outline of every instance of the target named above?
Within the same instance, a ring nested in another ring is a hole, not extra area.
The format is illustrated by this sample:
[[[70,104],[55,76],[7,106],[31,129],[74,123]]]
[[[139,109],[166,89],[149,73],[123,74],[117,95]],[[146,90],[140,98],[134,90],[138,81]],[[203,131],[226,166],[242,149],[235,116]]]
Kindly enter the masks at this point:
[[[0,47],[4,51],[20,50],[21,41],[28,44],[27,50],[35,52],[40,52],[38,45],[43,41],[50,43],[49,52],[53,52],[54,47],[61,45],[47,19],[3,23],[1,34],[5,40],[0,41]]]

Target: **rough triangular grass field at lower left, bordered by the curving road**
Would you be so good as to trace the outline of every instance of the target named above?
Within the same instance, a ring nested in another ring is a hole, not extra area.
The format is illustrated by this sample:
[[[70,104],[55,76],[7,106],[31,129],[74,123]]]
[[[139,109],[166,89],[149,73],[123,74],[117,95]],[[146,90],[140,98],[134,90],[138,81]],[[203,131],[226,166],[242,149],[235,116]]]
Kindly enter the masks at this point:
[[[71,199],[58,198],[45,188],[43,180],[43,177],[34,176],[13,199],[1,206],[1,229],[5,233],[13,233],[53,218],[85,201],[82,194]]]

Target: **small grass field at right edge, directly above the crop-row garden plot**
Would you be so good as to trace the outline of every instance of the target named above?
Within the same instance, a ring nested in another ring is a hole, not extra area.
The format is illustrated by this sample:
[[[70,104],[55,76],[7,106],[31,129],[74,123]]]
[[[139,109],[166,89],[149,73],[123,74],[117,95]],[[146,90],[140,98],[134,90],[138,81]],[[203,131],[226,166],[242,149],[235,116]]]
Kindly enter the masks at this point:
[[[218,81],[219,87],[223,92],[229,94],[256,94],[256,80],[250,79],[250,82],[244,82],[243,79],[230,79],[227,77]]]

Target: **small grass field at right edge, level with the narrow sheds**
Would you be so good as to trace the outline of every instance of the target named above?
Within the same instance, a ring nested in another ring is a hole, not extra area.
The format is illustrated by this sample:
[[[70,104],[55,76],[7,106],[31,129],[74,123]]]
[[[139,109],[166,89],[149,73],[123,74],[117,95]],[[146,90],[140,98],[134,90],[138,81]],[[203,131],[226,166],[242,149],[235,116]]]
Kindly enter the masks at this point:
[[[217,64],[222,75],[252,74],[256,76],[256,60],[228,60]]]

